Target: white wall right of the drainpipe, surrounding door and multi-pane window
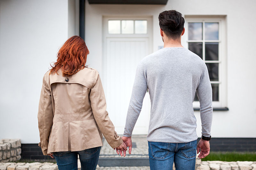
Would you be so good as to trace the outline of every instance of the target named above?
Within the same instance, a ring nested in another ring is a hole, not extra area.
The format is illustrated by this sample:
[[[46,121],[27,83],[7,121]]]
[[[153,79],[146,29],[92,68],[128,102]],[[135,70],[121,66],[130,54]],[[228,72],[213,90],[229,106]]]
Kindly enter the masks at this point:
[[[102,71],[102,16],[153,16],[153,51],[162,46],[158,15],[177,10],[185,15],[227,15],[227,107],[214,111],[213,137],[256,137],[256,1],[169,0],[167,5],[91,5],[86,3],[85,42],[90,50],[87,64]],[[185,42],[182,42],[185,43]],[[127,103],[128,105],[129,103]],[[201,136],[199,112],[195,112]]]

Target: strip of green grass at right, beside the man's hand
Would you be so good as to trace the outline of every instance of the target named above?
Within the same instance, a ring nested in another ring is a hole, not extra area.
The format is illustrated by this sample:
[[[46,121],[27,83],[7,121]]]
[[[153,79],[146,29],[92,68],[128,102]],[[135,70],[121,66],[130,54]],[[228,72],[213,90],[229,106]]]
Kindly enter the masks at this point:
[[[256,161],[256,152],[210,152],[202,161]]]

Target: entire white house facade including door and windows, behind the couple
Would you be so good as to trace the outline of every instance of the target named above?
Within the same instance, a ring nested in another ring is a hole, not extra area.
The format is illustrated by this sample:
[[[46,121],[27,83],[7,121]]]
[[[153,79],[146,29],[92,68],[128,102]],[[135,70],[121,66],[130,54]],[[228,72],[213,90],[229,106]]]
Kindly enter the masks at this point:
[[[58,49],[73,35],[84,36],[90,51],[87,64],[100,73],[109,117],[122,135],[136,66],[163,48],[158,15],[164,10],[183,14],[182,45],[208,67],[213,89],[212,137],[256,138],[256,1],[83,2],[81,6],[79,0],[0,0],[0,138],[20,138],[22,144],[39,142],[42,78],[56,61]],[[195,98],[200,137],[198,108]],[[147,134],[149,116],[147,93],[134,135]]]

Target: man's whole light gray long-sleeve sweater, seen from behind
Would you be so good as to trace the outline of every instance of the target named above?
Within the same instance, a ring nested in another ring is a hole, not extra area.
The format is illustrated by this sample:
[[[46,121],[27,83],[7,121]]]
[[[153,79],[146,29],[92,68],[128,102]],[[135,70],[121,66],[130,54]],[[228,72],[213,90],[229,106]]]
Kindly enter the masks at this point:
[[[187,48],[163,48],[141,60],[128,107],[125,137],[132,136],[147,89],[151,101],[148,141],[184,143],[196,140],[193,110],[196,93],[200,101],[202,135],[210,136],[212,87],[207,67],[198,55]]]

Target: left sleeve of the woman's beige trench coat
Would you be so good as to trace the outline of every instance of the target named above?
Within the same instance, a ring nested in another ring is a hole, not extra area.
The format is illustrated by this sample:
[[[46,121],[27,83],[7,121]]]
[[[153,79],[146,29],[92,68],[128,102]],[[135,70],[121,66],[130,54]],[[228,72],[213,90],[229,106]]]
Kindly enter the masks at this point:
[[[45,76],[43,78],[37,119],[40,134],[40,143],[38,144],[38,146],[41,147],[43,154],[47,155],[50,129],[52,127],[53,112],[51,91],[45,81]]]

